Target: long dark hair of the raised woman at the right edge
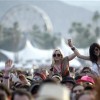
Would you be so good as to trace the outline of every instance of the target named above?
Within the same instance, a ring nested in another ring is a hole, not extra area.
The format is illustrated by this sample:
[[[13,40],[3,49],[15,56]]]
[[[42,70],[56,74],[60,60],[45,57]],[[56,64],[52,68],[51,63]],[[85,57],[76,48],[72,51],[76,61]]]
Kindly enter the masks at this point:
[[[89,49],[89,54],[90,54],[90,60],[92,61],[92,62],[97,62],[97,60],[98,60],[98,57],[95,55],[95,47],[97,47],[99,50],[100,50],[100,45],[98,44],[98,43],[93,43],[93,44],[91,44],[91,46],[90,46],[90,49]]]

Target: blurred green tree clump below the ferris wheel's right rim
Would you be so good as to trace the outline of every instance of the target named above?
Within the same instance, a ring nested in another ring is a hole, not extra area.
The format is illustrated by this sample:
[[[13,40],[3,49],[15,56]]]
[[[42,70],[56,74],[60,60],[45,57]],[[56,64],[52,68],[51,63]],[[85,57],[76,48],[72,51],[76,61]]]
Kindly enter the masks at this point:
[[[30,40],[33,46],[37,48],[51,49],[59,45],[61,39],[60,37],[53,35],[53,33],[47,31],[42,32],[37,25],[34,25],[30,32]]]

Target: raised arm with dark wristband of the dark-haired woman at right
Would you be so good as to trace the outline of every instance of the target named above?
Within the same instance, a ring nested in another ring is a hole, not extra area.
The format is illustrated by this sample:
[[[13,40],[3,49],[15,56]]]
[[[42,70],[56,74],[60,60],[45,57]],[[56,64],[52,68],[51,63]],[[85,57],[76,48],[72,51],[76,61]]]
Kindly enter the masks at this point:
[[[84,55],[81,55],[79,53],[79,51],[73,46],[73,44],[71,42],[71,39],[68,39],[68,45],[72,49],[72,51],[76,54],[76,56],[78,58],[81,58],[81,59],[84,59],[84,60],[90,60],[90,57],[89,56],[84,56]]]

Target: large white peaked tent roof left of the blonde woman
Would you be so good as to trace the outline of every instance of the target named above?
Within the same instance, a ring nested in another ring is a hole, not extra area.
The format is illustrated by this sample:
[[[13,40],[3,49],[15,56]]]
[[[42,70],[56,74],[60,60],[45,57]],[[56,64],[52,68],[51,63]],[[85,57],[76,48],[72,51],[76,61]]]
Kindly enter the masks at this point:
[[[26,42],[26,46],[23,50],[18,52],[19,59],[23,60],[46,60],[51,59],[53,50],[40,50],[37,48],[34,48],[30,41]]]

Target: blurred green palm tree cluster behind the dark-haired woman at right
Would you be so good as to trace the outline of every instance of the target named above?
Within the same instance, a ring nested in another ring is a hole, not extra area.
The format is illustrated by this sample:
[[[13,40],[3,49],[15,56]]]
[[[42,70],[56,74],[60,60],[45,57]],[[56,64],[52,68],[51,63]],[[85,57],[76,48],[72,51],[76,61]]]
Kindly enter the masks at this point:
[[[91,43],[97,41],[97,38],[100,36],[100,27],[98,24],[99,18],[100,14],[95,12],[92,17],[93,24],[89,23],[83,25],[79,22],[72,23],[69,34],[71,34],[77,47],[86,48]]]

